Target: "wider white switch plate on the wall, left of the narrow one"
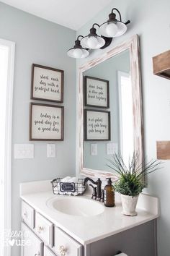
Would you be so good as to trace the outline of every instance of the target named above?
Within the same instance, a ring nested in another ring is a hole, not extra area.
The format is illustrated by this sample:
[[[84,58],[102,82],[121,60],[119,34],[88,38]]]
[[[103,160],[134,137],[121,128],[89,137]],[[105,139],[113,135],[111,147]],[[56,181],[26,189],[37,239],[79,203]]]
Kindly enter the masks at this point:
[[[34,158],[34,144],[14,144],[14,158]]]

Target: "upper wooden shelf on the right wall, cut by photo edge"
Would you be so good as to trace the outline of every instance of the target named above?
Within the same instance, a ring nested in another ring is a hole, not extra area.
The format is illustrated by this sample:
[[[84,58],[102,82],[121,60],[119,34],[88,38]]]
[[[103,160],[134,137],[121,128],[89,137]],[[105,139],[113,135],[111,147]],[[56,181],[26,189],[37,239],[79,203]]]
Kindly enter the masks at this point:
[[[153,57],[153,74],[170,80],[170,50]]]

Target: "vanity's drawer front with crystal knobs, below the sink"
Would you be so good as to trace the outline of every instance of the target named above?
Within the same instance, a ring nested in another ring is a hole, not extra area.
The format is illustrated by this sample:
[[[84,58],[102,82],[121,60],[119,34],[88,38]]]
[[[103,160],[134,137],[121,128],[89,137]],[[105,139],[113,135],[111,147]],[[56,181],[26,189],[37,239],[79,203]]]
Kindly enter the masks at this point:
[[[84,247],[22,201],[21,256],[84,256]]]

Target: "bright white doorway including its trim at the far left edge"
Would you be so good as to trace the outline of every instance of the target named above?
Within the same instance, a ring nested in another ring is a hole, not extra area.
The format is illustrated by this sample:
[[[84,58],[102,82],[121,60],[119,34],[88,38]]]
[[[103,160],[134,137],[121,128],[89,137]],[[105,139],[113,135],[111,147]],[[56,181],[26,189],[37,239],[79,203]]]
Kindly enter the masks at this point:
[[[0,38],[0,256],[10,255],[13,80],[14,42]]]

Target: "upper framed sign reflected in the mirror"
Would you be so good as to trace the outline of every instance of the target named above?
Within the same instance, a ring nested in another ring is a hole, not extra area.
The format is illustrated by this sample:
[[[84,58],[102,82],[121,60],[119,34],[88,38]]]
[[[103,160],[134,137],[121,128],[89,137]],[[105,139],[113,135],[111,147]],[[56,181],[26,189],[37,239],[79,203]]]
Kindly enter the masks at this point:
[[[109,81],[97,77],[84,77],[84,105],[109,108]]]

